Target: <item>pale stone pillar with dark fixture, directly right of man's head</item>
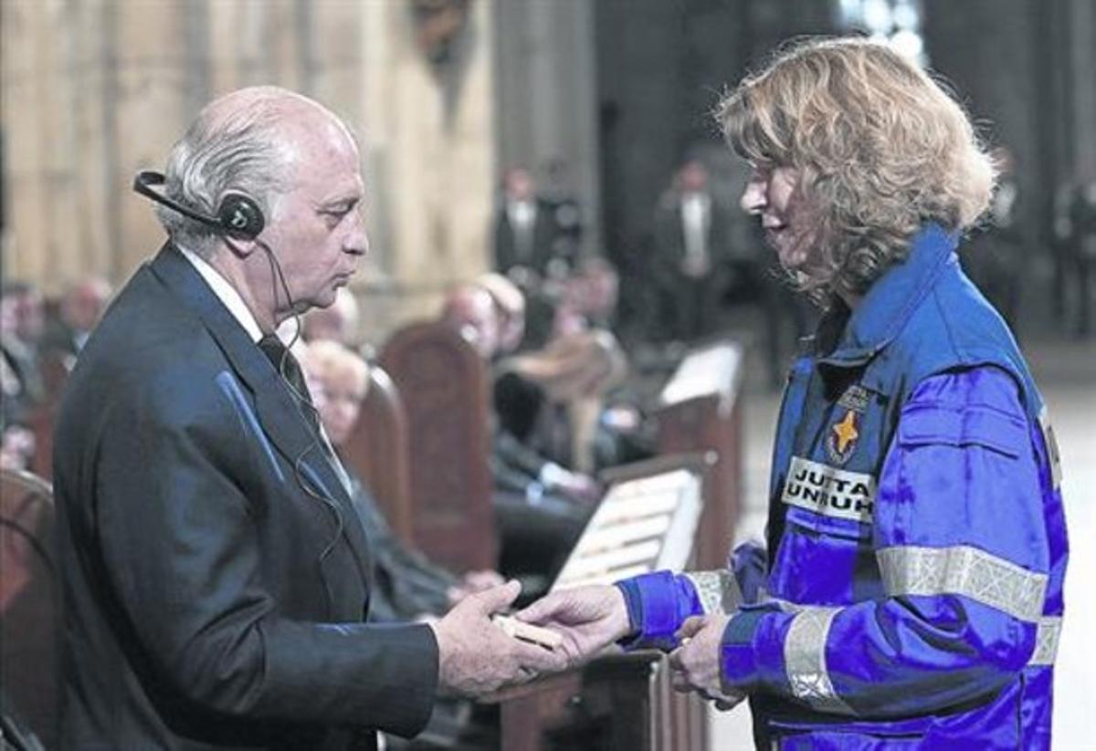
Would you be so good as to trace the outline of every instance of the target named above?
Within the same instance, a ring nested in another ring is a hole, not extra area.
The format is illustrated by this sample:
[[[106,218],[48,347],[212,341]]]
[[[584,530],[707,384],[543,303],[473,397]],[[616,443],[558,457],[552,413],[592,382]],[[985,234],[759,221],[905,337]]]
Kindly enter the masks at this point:
[[[450,61],[436,67],[418,46],[411,3],[363,5],[362,142],[368,212],[380,221],[359,298],[374,332],[434,315],[450,282],[488,267],[492,11],[472,2]]]

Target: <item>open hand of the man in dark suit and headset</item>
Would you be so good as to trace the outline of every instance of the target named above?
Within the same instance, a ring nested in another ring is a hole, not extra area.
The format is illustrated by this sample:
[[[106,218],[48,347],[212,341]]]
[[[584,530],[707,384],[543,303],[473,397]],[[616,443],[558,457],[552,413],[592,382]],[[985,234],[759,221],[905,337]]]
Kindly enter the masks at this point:
[[[515,639],[491,623],[491,615],[509,608],[521,591],[521,584],[511,581],[469,594],[431,624],[437,637],[443,694],[476,698],[566,667],[561,652]]]

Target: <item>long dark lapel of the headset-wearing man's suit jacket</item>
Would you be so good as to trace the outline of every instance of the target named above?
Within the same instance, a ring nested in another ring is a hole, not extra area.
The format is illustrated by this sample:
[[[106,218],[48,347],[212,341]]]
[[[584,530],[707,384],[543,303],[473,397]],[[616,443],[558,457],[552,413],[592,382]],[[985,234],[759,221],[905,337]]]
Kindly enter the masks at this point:
[[[320,438],[315,436],[285,380],[248,333],[214,294],[190,262],[170,243],[151,264],[152,273],[168,286],[181,303],[201,317],[237,376],[255,398],[255,412],[263,431],[290,466],[290,474],[308,483],[311,493],[330,499],[343,517],[343,535],[362,561],[368,559],[367,542],[356,511]],[[298,467],[299,463],[299,467]],[[304,490],[305,488],[302,488]],[[308,492],[308,490],[306,490]]]

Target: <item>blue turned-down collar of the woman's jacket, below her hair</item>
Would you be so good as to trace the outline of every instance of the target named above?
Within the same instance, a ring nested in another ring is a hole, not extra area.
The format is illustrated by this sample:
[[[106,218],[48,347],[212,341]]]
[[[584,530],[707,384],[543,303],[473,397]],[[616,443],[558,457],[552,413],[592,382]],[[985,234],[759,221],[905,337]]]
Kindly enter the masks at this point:
[[[838,368],[860,366],[890,344],[947,263],[955,259],[957,244],[958,235],[936,223],[914,235],[905,261],[884,271],[852,314],[841,305],[835,315],[848,316],[844,331],[837,346],[819,362]]]

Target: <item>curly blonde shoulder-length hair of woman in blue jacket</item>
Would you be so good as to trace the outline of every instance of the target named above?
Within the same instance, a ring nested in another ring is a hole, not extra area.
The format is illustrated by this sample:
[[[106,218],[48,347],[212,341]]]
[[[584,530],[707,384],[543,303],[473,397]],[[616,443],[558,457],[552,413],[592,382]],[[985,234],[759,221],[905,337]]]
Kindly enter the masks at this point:
[[[799,172],[812,234],[797,277],[820,300],[863,294],[926,222],[970,228],[993,192],[993,163],[959,103],[864,38],[795,44],[717,117],[740,157]]]

